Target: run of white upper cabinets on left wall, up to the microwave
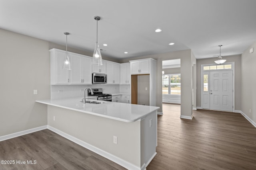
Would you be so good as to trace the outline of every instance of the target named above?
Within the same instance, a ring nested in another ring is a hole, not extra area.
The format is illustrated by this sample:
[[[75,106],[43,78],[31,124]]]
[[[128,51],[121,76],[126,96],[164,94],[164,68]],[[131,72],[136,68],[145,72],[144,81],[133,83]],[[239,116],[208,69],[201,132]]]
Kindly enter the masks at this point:
[[[92,57],[68,52],[71,70],[62,69],[66,51],[51,49],[51,84],[92,84]]]

